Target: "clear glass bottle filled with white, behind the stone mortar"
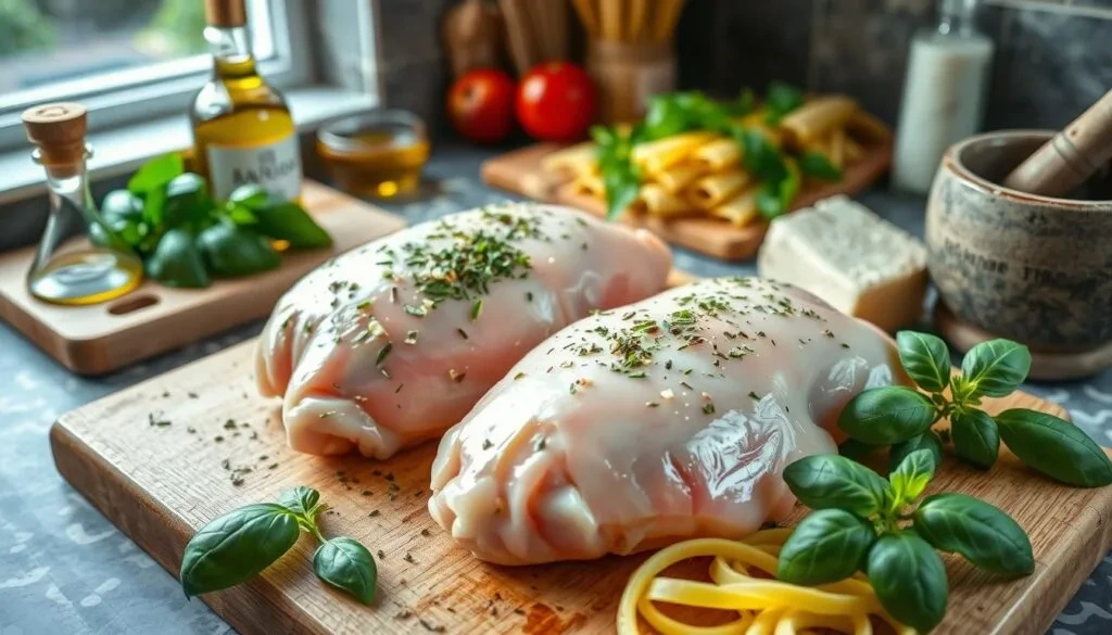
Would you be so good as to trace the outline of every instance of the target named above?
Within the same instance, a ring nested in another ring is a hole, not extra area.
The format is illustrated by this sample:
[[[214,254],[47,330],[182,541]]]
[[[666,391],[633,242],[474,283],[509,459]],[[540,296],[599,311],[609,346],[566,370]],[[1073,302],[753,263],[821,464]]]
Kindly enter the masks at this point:
[[[939,23],[912,40],[892,182],[926,194],[943,152],[981,128],[992,40],[976,30],[979,0],[941,0]]]

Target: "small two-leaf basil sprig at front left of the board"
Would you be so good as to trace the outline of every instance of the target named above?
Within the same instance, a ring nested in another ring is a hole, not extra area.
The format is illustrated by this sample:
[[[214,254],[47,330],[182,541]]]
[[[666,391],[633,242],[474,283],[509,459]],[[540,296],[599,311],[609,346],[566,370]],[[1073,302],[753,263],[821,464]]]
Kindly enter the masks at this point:
[[[186,545],[180,575],[186,597],[254,578],[305,532],[320,542],[312,556],[317,577],[371,604],[378,577],[375,559],[355,538],[325,538],[317,518],[327,508],[316,489],[295,487],[282,492],[277,503],[247,505],[212,519]]]

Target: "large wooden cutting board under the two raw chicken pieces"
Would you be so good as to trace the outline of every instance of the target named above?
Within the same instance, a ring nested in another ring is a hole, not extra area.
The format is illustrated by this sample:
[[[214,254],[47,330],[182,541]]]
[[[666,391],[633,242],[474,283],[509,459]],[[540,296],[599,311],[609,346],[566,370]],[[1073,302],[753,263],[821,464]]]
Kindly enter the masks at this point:
[[[205,523],[295,485],[318,488],[332,506],[326,534],[380,550],[374,607],[314,577],[308,536],[250,584],[202,597],[241,634],[614,631],[622,588],[644,556],[517,568],[475,559],[428,515],[436,444],[381,463],[289,450],[278,401],[255,393],[254,347],[239,345],[85,406],[50,431],[62,476],[175,576],[185,544]],[[1065,416],[1023,394],[992,400],[989,410],[1010,407]],[[1041,635],[1112,540],[1112,487],[1055,485],[1006,450],[987,474],[947,458],[931,486],[937,490],[1005,509],[1030,533],[1037,562],[1033,575],[1000,581],[947,557],[950,611],[940,635]],[[797,509],[794,519],[802,515]]]

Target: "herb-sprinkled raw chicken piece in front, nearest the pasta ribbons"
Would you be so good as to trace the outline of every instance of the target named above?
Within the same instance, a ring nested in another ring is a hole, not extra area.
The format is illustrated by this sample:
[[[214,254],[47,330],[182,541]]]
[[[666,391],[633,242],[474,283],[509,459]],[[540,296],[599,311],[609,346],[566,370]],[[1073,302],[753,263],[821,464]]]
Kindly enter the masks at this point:
[[[429,512],[508,565],[741,538],[792,510],[784,467],[836,453],[842,406],[894,373],[885,335],[794,287],[672,289],[512,368],[441,439]]]

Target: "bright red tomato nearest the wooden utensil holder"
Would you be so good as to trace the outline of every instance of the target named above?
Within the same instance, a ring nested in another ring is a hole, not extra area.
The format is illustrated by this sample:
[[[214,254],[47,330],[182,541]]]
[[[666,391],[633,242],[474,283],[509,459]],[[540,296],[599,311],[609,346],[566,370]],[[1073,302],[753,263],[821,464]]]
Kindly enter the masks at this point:
[[[517,120],[530,136],[545,141],[575,141],[595,120],[595,83],[582,68],[545,62],[522,78]]]

